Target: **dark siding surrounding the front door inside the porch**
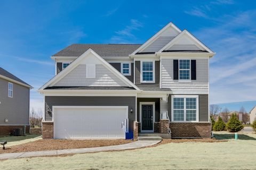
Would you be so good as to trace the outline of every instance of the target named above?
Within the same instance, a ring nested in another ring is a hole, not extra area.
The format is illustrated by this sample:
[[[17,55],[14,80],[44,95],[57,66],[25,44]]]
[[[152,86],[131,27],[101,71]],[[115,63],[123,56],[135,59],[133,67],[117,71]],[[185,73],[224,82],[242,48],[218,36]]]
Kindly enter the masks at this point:
[[[155,102],[155,122],[160,121],[160,99],[159,98],[137,98],[137,121],[140,122],[140,102]]]

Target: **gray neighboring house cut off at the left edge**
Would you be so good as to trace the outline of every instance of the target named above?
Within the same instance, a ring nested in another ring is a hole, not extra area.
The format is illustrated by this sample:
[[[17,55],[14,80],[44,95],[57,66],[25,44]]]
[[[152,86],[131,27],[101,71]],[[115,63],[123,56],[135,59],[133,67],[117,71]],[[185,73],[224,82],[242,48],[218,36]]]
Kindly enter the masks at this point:
[[[29,91],[33,88],[0,67],[0,135],[26,125],[29,132]]]

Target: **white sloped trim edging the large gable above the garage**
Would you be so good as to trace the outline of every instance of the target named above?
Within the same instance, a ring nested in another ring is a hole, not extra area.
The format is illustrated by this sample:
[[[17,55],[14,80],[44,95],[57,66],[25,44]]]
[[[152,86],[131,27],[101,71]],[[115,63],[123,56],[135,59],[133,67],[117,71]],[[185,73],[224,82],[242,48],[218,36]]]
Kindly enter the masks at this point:
[[[111,66],[106,60],[104,60],[97,53],[95,53],[91,48],[89,48],[81,56],[76,58],[74,62],[70,63],[67,69],[62,70],[59,74],[55,75],[55,77],[53,77],[50,81],[45,83],[41,88],[39,88],[39,90],[43,90],[46,87],[52,86],[55,83],[57,83],[59,80],[65,77],[70,71],[75,69],[75,67],[83,60],[83,58],[89,55],[90,53],[93,54],[95,57],[97,57],[98,60],[100,60],[102,64],[109,69],[109,71],[111,71],[113,74],[119,77],[119,79],[122,80],[127,86],[140,90],[137,86],[135,86],[135,84],[133,84],[129,79],[127,79],[121,72],[117,71],[113,66]]]

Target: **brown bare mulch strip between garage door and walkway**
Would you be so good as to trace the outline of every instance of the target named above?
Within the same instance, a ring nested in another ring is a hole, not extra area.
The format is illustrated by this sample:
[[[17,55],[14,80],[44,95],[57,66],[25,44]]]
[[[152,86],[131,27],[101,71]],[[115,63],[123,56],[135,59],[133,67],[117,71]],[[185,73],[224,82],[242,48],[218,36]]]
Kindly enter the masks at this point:
[[[5,150],[0,149],[0,154],[41,151],[41,150],[57,150],[57,149],[77,149],[77,148],[93,148],[103,146],[122,145],[133,142],[132,140],[64,140],[64,139],[42,139],[34,142],[24,143],[12,147],[6,147]]]

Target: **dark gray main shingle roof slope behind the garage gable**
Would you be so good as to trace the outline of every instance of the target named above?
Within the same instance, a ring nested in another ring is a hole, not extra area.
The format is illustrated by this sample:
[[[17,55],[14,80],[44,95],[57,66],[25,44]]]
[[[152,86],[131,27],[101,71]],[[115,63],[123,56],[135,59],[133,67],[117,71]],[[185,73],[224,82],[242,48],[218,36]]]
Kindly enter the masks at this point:
[[[141,44],[72,44],[53,56],[81,56],[87,49],[91,48],[101,57],[128,57]]]

